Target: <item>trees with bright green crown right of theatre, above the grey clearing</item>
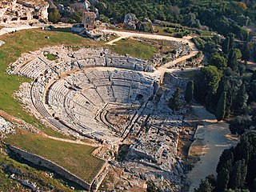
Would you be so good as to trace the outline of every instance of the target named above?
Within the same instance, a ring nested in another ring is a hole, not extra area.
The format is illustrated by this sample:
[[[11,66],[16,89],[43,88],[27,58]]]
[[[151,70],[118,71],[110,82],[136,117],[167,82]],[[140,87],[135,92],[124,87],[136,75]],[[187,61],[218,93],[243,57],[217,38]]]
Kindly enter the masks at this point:
[[[206,43],[219,49],[205,49],[210,57],[194,77],[194,98],[219,121],[231,118],[233,134],[243,134],[256,124],[256,72],[246,70],[246,60],[251,58],[243,49],[246,43],[234,43],[234,34],[222,41],[210,38]]]

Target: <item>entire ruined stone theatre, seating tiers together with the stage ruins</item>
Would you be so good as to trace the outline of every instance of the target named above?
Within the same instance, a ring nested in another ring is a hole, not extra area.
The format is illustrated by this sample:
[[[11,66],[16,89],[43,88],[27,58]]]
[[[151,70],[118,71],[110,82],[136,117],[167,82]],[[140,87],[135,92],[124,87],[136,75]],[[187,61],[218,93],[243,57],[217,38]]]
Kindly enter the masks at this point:
[[[50,61],[47,54],[56,59]],[[34,79],[17,94],[31,113],[64,134],[101,142],[111,151],[104,159],[118,153],[120,142],[132,143],[127,161],[116,165],[132,169],[127,181],[177,188],[182,182],[182,172],[174,168],[182,114],[171,114],[168,102],[174,87],[186,82],[165,74],[162,81],[173,87],[160,91],[152,65],[104,48],[51,47],[23,54],[8,72]],[[106,174],[101,175],[94,188]]]

